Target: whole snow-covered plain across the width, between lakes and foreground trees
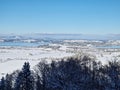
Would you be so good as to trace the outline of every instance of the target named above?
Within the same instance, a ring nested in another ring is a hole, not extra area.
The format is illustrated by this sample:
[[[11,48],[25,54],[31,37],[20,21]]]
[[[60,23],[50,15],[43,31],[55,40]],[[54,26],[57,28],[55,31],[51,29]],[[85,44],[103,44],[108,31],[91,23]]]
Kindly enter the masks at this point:
[[[95,47],[95,45],[104,44],[108,45],[111,43],[104,43],[99,40],[65,40],[39,47],[0,46],[0,78],[7,73],[21,69],[24,62],[29,62],[32,69],[41,60],[46,60],[50,63],[51,60],[82,53],[93,56],[95,60],[101,61],[102,64],[107,64],[111,60],[120,60],[120,48]]]

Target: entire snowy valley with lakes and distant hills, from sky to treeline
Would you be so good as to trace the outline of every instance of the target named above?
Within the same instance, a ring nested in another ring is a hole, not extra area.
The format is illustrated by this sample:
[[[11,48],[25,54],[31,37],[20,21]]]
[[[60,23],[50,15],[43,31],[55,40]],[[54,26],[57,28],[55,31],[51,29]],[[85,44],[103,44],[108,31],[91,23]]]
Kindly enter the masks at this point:
[[[52,39],[53,36],[56,39]],[[80,38],[75,35],[1,36],[0,77],[20,69],[27,61],[34,67],[42,60],[50,63],[52,60],[79,54],[87,54],[96,61],[101,61],[103,65],[108,61],[120,60],[120,40]]]

